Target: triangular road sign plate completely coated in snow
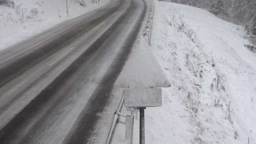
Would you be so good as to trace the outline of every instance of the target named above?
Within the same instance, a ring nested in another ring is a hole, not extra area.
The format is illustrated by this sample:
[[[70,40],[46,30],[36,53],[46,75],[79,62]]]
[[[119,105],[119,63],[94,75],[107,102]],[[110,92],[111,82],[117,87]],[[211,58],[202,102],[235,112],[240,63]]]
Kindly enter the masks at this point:
[[[158,62],[141,37],[136,40],[126,64],[119,74],[115,87],[148,88],[169,87],[170,84]]]

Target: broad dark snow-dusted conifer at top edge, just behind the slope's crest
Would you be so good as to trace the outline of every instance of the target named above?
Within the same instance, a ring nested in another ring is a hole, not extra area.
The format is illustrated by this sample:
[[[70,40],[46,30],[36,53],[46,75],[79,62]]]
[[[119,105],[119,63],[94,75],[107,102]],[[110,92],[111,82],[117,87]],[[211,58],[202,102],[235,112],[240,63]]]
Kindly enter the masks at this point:
[[[210,13],[214,15],[223,14],[228,16],[228,10],[226,8],[226,3],[223,0],[213,0],[210,3]]]

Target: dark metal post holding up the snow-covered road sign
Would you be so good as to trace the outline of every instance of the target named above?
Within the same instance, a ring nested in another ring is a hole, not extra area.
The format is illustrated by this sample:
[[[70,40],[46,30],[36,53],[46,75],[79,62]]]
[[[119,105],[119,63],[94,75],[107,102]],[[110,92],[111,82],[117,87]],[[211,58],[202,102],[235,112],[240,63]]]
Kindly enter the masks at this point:
[[[145,144],[144,109],[145,108],[139,108],[139,144]]]

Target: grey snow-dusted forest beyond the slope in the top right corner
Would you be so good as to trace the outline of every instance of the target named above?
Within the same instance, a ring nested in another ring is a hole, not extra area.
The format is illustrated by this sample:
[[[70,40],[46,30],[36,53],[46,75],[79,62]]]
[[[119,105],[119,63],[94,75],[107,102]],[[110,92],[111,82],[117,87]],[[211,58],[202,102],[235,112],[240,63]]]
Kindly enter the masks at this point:
[[[226,21],[245,26],[245,37],[256,45],[256,0],[171,0],[203,8]]]

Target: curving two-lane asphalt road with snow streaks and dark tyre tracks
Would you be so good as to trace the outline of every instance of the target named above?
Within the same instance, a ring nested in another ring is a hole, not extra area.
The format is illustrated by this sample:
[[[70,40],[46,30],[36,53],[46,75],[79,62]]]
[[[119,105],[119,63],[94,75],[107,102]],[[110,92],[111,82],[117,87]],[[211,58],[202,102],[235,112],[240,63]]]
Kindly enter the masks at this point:
[[[0,143],[87,143],[145,11],[111,0],[1,51]]]

